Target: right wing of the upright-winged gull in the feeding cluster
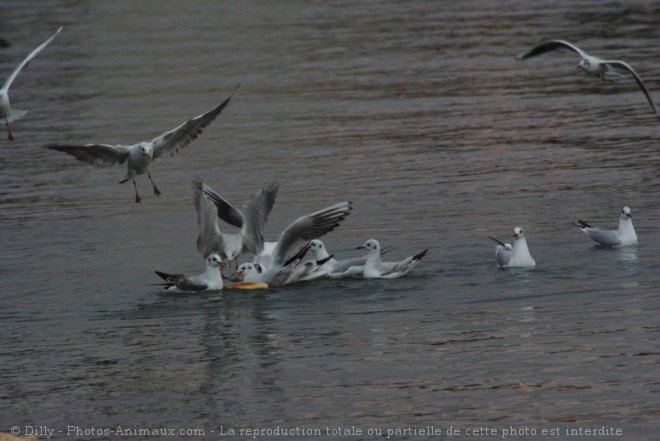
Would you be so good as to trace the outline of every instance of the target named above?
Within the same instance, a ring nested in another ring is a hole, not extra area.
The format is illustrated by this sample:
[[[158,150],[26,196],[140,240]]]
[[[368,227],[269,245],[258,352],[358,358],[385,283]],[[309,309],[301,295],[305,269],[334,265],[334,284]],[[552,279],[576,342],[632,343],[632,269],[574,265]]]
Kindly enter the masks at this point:
[[[254,193],[243,210],[243,248],[258,256],[264,248],[264,227],[273,209],[279,185],[270,184]],[[218,210],[219,211],[219,210]]]

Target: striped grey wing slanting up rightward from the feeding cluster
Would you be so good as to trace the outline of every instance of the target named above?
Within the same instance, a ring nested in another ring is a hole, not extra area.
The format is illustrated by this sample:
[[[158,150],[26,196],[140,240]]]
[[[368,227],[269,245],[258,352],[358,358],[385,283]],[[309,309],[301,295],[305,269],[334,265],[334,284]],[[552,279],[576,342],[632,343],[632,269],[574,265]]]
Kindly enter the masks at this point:
[[[339,226],[352,210],[350,202],[340,202],[296,219],[280,234],[273,250],[272,265],[281,265],[296,243],[318,239]]]

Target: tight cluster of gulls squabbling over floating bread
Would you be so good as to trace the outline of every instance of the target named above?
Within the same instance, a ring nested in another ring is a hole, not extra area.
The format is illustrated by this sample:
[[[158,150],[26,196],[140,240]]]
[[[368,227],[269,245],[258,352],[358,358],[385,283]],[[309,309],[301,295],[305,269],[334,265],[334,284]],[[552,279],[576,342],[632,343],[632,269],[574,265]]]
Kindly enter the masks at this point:
[[[165,288],[178,291],[222,289],[222,267],[236,262],[241,254],[254,256],[239,265],[228,288],[277,287],[319,277],[397,278],[407,274],[428,250],[399,262],[383,262],[377,240],[370,239],[358,249],[367,255],[337,260],[319,238],[338,227],[350,214],[350,202],[339,202],[291,223],[275,242],[267,242],[263,230],[277,197],[279,186],[271,184],[255,192],[242,209],[232,205],[201,180],[193,181],[199,236],[197,251],[206,257],[206,271],[194,277],[156,271]],[[223,233],[219,221],[240,228]],[[297,248],[301,245],[302,248]],[[307,254],[312,258],[305,260]]]

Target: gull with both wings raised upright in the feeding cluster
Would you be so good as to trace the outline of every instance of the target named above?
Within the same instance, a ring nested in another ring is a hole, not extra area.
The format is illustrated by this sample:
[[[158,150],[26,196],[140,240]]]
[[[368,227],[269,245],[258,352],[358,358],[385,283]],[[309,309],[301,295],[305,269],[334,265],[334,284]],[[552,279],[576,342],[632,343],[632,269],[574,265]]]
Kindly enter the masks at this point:
[[[217,252],[225,261],[233,261],[241,253],[258,256],[264,247],[263,230],[275,204],[279,185],[272,183],[255,192],[241,210],[222,198],[201,180],[193,180],[193,199],[197,209],[199,237],[197,251],[202,256]],[[218,213],[232,219],[241,231],[222,233]]]

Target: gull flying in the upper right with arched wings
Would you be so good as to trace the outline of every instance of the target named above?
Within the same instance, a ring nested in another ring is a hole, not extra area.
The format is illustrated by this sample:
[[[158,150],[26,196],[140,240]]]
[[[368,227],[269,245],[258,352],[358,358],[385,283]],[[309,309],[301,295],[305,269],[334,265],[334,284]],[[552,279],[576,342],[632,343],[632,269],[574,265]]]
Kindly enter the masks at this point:
[[[631,73],[632,76],[635,78],[637,85],[642,89],[644,95],[646,95],[646,99],[649,101],[649,104],[653,109],[653,113],[658,113],[658,109],[655,107],[655,103],[653,102],[653,99],[651,98],[649,91],[646,89],[646,86],[644,86],[644,83],[642,82],[640,76],[637,75],[637,72],[635,72],[635,70],[632,67],[630,67],[628,63],[625,63],[623,61],[603,60],[602,58],[594,57],[593,55],[589,55],[588,53],[586,53],[579,47],[575,46],[574,44],[571,44],[564,40],[546,41],[537,46],[534,46],[531,49],[526,50],[525,52],[518,54],[516,56],[516,59],[518,61],[522,61],[527,58],[531,58],[536,55],[540,55],[545,52],[553,51],[555,49],[560,49],[560,48],[570,49],[573,52],[577,53],[580,56],[580,62],[578,63],[577,67],[582,69],[587,74],[594,75],[602,80],[614,80],[621,78],[624,75],[622,71],[627,71]]]

